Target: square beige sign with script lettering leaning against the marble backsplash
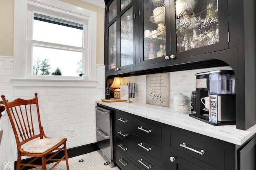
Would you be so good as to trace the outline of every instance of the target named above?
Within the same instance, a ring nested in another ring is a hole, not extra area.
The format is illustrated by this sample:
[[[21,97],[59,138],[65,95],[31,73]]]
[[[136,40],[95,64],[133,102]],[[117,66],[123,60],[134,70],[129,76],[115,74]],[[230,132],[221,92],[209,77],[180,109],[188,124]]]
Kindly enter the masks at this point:
[[[147,104],[170,107],[170,73],[150,74],[147,78]]]

